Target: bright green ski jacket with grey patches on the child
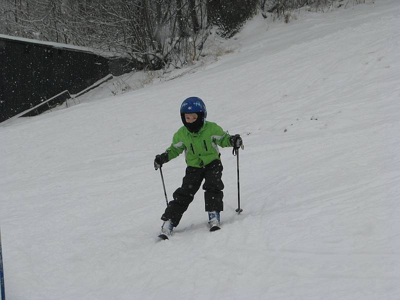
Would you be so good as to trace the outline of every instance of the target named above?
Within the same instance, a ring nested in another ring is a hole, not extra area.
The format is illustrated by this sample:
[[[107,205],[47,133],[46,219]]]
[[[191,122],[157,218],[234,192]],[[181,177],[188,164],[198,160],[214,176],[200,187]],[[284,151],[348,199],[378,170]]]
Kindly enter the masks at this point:
[[[184,151],[187,166],[203,167],[219,159],[218,146],[231,147],[229,133],[214,122],[205,121],[198,132],[182,126],[173,134],[171,145],[165,150],[168,161]]]

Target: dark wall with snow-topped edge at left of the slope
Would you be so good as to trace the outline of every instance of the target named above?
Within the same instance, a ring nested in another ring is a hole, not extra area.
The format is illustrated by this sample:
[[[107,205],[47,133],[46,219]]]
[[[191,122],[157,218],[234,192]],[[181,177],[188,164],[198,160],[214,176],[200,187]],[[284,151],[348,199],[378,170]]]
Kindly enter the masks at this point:
[[[110,73],[94,53],[0,37],[0,122],[67,89],[71,94]]]

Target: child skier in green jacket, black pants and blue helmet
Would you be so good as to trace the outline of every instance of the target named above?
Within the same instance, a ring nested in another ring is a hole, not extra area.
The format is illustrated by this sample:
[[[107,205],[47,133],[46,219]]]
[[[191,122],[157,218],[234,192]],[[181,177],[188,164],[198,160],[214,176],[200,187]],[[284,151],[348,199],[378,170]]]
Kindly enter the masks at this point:
[[[187,164],[182,185],[173,192],[173,200],[169,201],[161,216],[163,224],[160,235],[165,237],[171,235],[173,227],[178,225],[203,179],[205,211],[208,211],[210,231],[219,229],[219,212],[223,210],[223,167],[218,145],[242,147],[242,139],[238,134],[229,135],[216,123],[205,120],[207,110],[198,97],[189,97],[182,102],[180,117],[183,126],[173,135],[172,144],[154,159],[154,168],[158,169],[184,151]]]

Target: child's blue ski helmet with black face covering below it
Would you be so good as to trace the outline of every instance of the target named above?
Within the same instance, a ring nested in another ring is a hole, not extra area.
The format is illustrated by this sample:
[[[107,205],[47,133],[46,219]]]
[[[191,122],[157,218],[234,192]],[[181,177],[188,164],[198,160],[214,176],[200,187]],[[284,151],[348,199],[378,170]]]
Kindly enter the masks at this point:
[[[197,113],[197,120],[192,123],[187,123],[184,117],[185,113]],[[207,109],[203,100],[198,97],[188,97],[184,99],[180,105],[180,118],[183,125],[190,132],[198,132],[202,125],[204,125],[205,117],[207,116]]]

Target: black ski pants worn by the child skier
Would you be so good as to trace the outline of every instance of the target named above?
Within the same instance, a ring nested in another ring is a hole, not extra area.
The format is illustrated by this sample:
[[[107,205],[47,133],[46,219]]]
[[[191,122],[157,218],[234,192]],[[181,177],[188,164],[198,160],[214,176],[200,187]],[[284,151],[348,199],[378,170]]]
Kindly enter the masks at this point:
[[[173,226],[176,227],[183,212],[187,210],[187,207],[193,201],[194,194],[200,188],[203,179],[205,211],[222,211],[222,169],[223,166],[219,159],[211,161],[204,167],[186,167],[182,186],[173,192],[173,200],[169,201],[161,220],[166,221],[169,219]]]

